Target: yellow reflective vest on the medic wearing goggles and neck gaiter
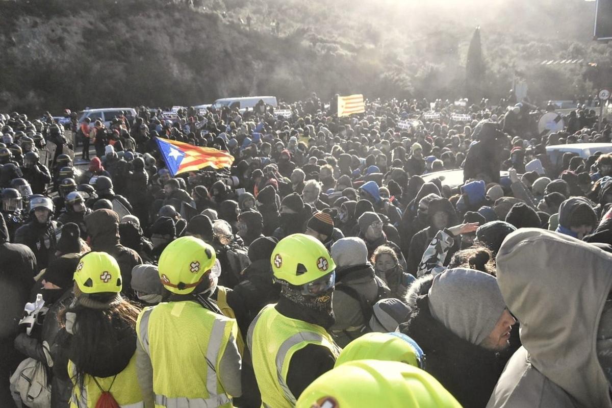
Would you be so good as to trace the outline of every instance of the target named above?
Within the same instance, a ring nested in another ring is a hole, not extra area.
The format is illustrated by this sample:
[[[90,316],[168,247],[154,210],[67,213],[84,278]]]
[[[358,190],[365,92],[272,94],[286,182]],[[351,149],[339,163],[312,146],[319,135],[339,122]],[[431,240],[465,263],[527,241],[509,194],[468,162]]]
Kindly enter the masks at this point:
[[[338,357],[340,348],[323,327],[283,316],[274,306],[267,305],[255,317],[248,327],[247,344],[262,406],[292,408],[299,397],[286,384],[293,354],[308,344],[318,344]]]

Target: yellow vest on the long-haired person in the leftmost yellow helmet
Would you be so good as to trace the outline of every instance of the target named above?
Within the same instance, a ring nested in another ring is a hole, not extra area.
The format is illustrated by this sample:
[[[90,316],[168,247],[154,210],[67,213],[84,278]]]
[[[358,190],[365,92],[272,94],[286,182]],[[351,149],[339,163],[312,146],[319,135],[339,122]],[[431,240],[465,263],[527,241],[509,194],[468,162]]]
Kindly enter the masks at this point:
[[[76,384],[76,366],[70,360],[68,362],[68,373],[74,385],[70,398],[70,408],[94,408],[100,395],[102,395],[100,388],[104,391],[108,391],[110,388],[110,393],[121,408],[144,408],[143,395],[140,392],[140,385],[138,385],[138,377],[136,377],[136,353],[130,358],[127,367],[116,377],[95,377],[95,380],[100,384],[100,388],[91,376],[86,376],[81,390]]]

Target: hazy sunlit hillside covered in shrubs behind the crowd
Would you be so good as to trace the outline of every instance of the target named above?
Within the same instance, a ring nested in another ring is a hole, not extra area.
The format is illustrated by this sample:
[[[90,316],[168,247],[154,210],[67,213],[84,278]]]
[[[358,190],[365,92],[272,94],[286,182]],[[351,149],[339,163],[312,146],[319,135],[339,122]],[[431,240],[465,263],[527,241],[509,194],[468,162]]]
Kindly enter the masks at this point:
[[[590,39],[594,4],[565,3],[2,1],[0,110],[296,100],[312,91],[458,98],[476,26],[485,96],[506,94],[516,74],[532,98],[571,99],[608,85],[612,46]],[[541,64],[567,59],[583,62]]]

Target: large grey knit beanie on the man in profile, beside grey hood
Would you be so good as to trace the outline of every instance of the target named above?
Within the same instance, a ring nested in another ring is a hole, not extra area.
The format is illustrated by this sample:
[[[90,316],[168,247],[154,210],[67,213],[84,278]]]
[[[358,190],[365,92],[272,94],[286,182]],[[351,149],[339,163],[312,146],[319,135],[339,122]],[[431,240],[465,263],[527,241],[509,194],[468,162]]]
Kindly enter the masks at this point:
[[[471,269],[450,269],[433,278],[431,316],[460,338],[481,344],[506,309],[496,278]]]

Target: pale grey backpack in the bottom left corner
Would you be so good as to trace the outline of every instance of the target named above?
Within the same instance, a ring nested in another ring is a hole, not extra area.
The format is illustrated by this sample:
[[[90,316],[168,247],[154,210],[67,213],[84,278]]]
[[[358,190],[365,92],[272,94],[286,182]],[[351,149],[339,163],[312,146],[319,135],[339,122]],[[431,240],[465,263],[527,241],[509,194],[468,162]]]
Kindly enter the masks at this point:
[[[51,384],[43,362],[26,358],[10,376],[10,391],[18,407],[51,406]]]

